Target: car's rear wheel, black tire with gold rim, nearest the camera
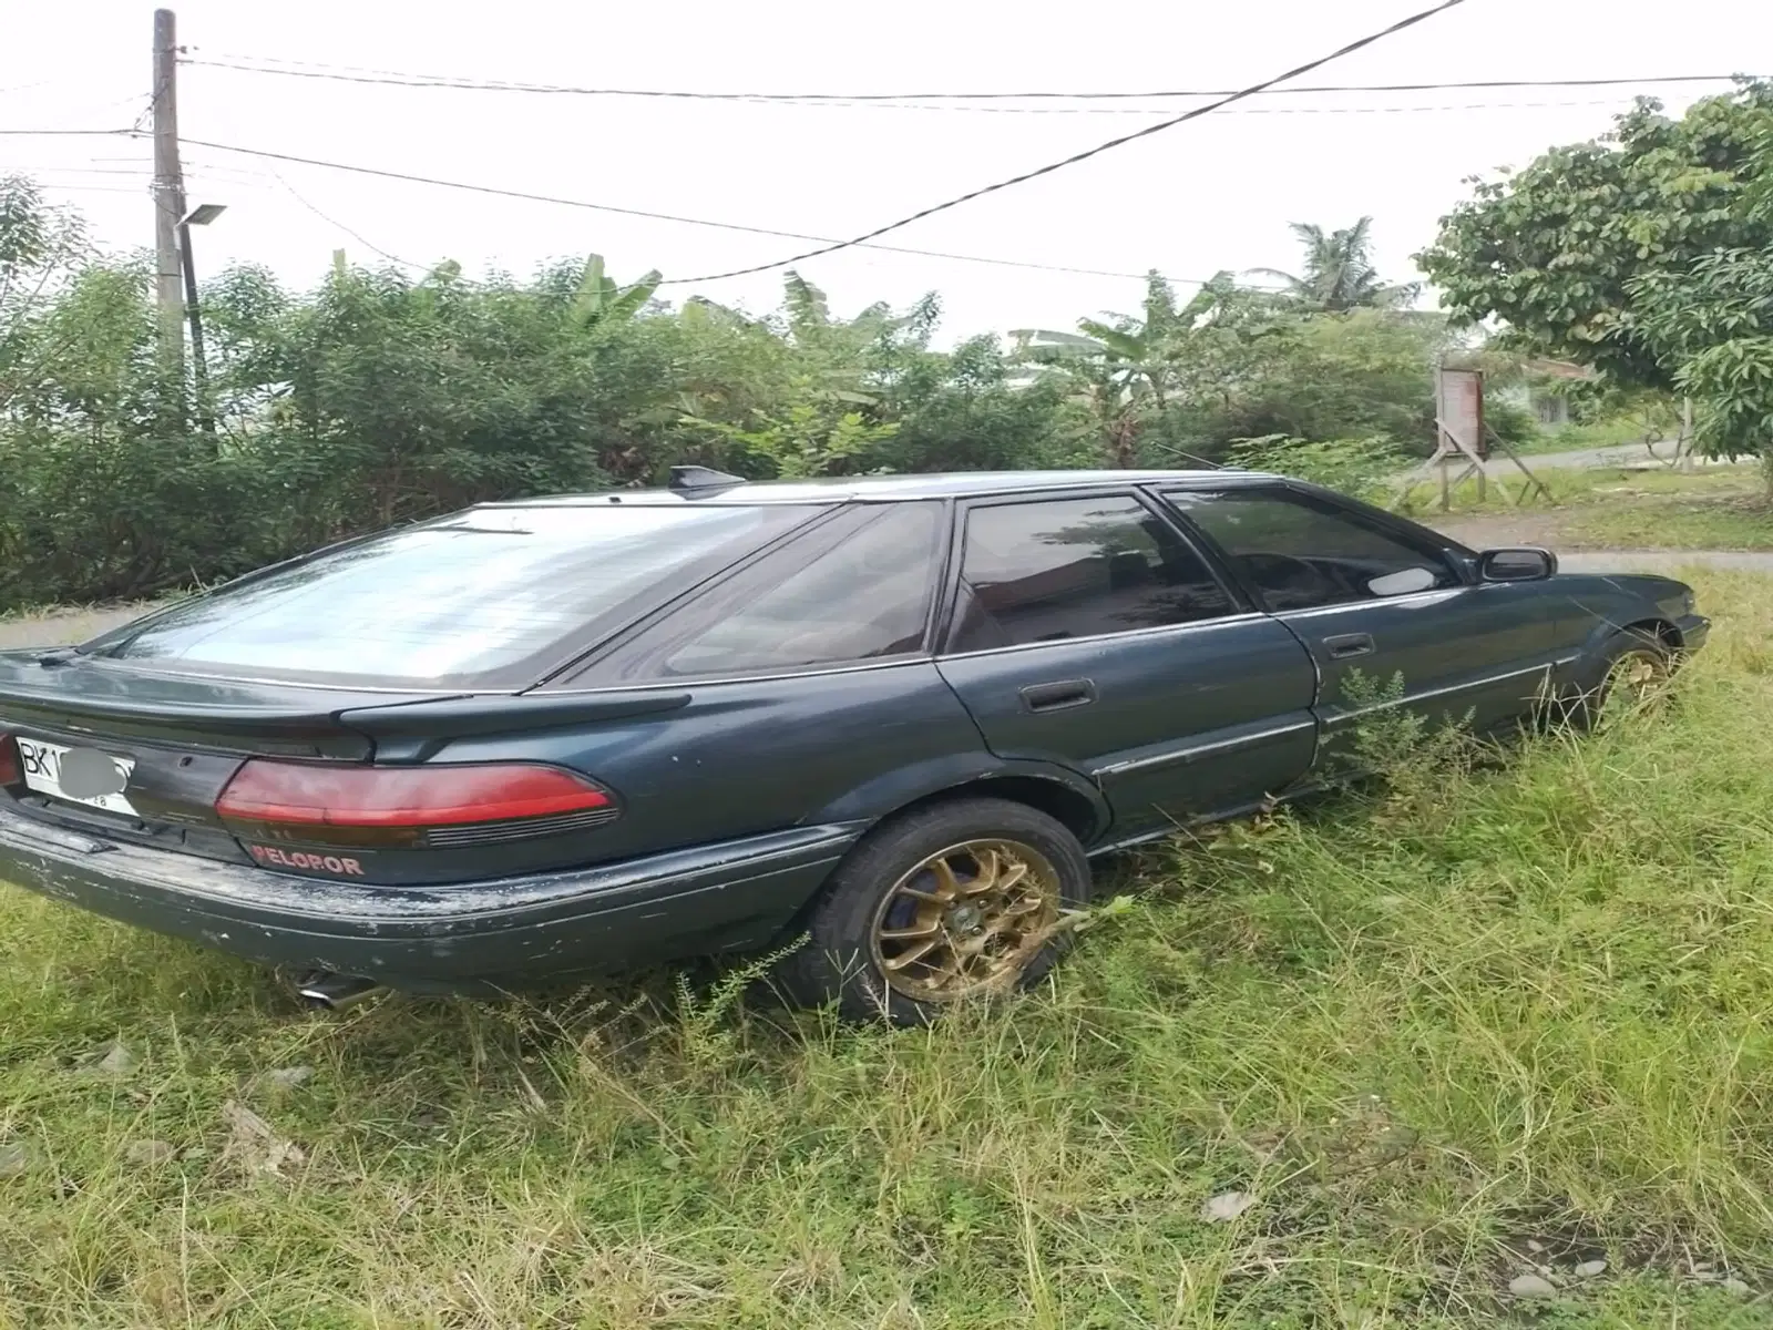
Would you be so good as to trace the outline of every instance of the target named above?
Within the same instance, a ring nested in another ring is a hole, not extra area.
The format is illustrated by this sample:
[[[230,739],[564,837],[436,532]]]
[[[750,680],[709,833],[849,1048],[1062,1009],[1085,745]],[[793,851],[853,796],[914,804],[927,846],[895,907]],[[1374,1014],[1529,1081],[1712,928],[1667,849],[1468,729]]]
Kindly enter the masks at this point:
[[[979,848],[973,855],[970,846]],[[924,867],[943,857],[945,881],[956,890],[947,904],[941,867]],[[989,855],[989,869],[984,855]],[[973,874],[966,874],[972,864]],[[1016,865],[1025,871],[1016,876]],[[913,876],[915,872],[915,876]],[[979,883],[1009,880],[1005,890],[972,897]],[[986,915],[973,899],[991,903],[1028,883],[1014,903]],[[927,892],[924,890],[927,888]],[[1032,915],[1027,901],[1050,901],[1044,913]],[[1058,926],[1062,911],[1080,910],[1090,899],[1090,865],[1083,846],[1062,823],[1025,803],[998,798],[954,798],[904,812],[874,828],[847,858],[837,865],[814,901],[805,931],[808,940],[789,956],[780,975],[787,995],[805,1004],[837,1002],[839,1014],[851,1021],[886,1020],[894,1025],[927,1025],[957,1000],[1027,988],[1039,981],[1069,949],[1071,933]],[[910,908],[913,919],[894,919]],[[956,920],[972,910],[984,920]],[[934,924],[934,954],[956,968],[952,993],[936,995],[949,966],[934,959],[906,958],[920,945],[899,940],[878,942],[876,933],[931,927],[922,919],[940,911]],[[1028,920],[1030,926],[1023,926]],[[888,927],[894,926],[894,927]],[[1018,929],[1014,933],[995,929]],[[993,929],[988,935],[988,929]],[[979,938],[984,936],[980,942]],[[968,952],[970,947],[986,951]],[[989,951],[998,947],[1000,951]],[[899,965],[895,974],[883,966]],[[973,975],[989,975],[973,979]]]

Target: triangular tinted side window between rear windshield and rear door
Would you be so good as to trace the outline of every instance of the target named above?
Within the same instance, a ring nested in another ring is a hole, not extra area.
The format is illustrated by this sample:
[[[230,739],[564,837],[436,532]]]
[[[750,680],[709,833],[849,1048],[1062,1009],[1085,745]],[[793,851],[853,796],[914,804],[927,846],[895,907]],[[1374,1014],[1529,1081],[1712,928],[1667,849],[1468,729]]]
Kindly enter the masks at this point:
[[[851,507],[670,612],[592,676],[706,679],[918,653],[941,525],[941,504]]]

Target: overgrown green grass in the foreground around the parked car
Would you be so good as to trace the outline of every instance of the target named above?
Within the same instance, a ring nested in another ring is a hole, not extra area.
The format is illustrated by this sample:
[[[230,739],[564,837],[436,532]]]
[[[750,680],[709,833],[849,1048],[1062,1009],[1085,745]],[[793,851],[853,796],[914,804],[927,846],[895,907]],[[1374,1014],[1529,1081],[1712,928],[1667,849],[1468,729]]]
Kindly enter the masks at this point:
[[[0,887],[0,1325],[1769,1325],[1773,580],[1695,582],[1667,708],[1119,865],[929,1032],[316,1018]]]

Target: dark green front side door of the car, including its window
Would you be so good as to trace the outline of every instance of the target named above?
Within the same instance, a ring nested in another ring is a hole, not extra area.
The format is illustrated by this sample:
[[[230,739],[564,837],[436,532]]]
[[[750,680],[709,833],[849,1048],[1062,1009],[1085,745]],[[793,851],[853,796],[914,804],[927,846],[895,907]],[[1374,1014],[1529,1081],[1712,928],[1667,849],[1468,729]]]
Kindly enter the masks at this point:
[[[1502,725],[1532,708],[1555,663],[1555,599],[1475,582],[1422,527],[1285,482],[1167,489],[1165,500],[1312,653],[1321,761],[1351,722],[1386,706]],[[1399,677],[1401,693],[1386,695]]]

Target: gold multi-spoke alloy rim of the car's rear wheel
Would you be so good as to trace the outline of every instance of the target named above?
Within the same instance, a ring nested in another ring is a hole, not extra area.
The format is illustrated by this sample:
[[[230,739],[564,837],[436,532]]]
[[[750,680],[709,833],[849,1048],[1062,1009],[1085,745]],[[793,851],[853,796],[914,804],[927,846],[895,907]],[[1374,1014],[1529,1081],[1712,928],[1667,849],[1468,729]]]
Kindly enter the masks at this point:
[[[917,1002],[1002,991],[1051,938],[1058,871],[1039,849],[995,837],[940,849],[874,911],[869,947],[881,975]]]

